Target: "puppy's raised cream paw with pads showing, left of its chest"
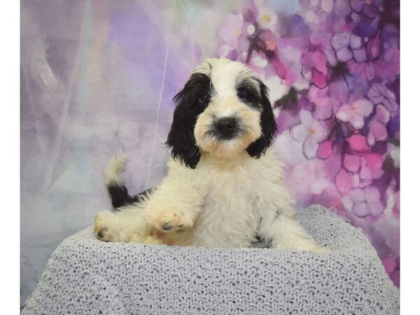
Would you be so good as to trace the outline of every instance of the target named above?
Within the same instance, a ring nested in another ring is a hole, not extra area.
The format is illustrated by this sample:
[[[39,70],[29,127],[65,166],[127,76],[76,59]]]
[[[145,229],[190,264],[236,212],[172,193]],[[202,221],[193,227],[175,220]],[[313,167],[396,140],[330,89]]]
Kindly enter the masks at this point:
[[[191,228],[193,226],[193,220],[188,218],[183,211],[147,211],[145,218],[148,224],[162,232]]]

